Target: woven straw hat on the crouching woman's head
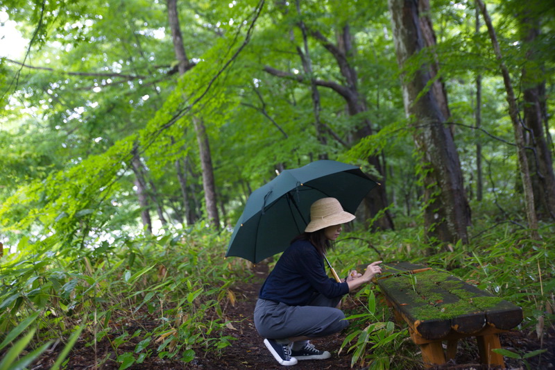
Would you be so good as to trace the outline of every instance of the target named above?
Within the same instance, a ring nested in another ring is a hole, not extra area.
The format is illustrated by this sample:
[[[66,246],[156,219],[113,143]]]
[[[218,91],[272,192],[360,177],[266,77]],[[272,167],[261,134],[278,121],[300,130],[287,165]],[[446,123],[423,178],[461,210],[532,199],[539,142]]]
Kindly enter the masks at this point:
[[[355,215],[345,212],[341,203],[335,198],[322,198],[310,206],[310,223],[306,233],[312,233],[327,226],[344,224],[355,219]]]

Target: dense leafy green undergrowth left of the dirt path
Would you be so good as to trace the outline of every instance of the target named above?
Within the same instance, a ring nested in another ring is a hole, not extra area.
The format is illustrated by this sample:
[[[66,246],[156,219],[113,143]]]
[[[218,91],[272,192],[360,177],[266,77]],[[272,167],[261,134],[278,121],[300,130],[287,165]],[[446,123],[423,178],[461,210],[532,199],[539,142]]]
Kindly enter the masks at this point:
[[[8,333],[0,340],[23,337],[0,355],[20,358],[31,347],[37,358],[58,338],[69,344],[76,327],[77,347],[89,347],[99,365],[115,359],[119,369],[151,355],[189,362],[200,348],[217,353],[234,339],[223,335],[230,285],[250,276],[240,261],[223,260],[226,242],[198,226],[85,249],[56,237],[20,243],[0,264],[0,330]],[[33,312],[36,326],[17,329]]]

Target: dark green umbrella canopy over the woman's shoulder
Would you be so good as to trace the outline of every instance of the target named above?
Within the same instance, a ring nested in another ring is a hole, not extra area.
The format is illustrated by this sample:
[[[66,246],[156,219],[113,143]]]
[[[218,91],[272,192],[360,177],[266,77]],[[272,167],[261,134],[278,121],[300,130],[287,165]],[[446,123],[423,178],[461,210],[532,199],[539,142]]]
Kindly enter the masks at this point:
[[[333,160],[282,171],[248,197],[225,257],[234,255],[257,263],[280,253],[304,232],[312,203],[330,196],[354,214],[376,185],[359,167]]]

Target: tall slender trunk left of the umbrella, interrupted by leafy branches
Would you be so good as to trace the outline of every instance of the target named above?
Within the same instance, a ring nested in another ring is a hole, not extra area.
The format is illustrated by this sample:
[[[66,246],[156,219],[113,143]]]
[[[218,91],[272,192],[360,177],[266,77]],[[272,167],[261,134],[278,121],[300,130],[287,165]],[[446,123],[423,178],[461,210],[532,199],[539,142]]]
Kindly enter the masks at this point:
[[[168,18],[171,28],[171,38],[173,41],[173,50],[179,62],[180,75],[185,74],[189,68],[189,60],[185,47],[183,46],[183,37],[179,24],[177,11],[177,0],[168,0]],[[206,128],[201,119],[193,117],[195,126],[196,140],[198,142],[198,151],[200,155],[200,166],[203,170],[203,187],[206,201],[207,216],[213,226],[219,226],[218,206],[216,201],[216,187],[214,183],[214,169],[212,167],[212,155],[210,154],[210,145],[208,144],[208,136]]]

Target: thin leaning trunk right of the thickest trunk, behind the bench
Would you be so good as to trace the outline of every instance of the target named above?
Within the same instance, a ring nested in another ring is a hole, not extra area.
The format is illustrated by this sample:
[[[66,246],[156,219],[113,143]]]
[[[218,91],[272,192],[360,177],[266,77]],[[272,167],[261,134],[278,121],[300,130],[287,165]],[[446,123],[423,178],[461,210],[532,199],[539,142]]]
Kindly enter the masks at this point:
[[[495,51],[495,57],[497,58],[497,62],[499,62],[499,68],[501,69],[501,73],[503,75],[507,101],[509,102],[509,115],[511,116],[511,121],[513,122],[513,131],[515,134],[518,164],[520,165],[520,178],[522,179],[522,187],[524,187],[524,203],[526,206],[528,227],[531,229],[532,237],[538,239],[538,218],[536,217],[536,207],[534,206],[533,201],[532,182],[530,179],[528,160],[524,148],[525,145],[524,135],[522,133],[522,124],[520,123],[520,119],[518,117],[518,108],[515,93],[513,91],[513,84],[511,83],[511,76],[509,76],[509,69],[507,69],[505,62],[503,61],[501,49],[499,48],[499,43],[497,42],[497,35],[495,34],[495,29],[491,23],[488,10],[486,9],[483,1],[476,1],[480,7],[481,14],[484,17],[484,22],[486,22],[486,26],[488,26],[488,33],[490,35],[491,43],[493,44],[493,51]]]

